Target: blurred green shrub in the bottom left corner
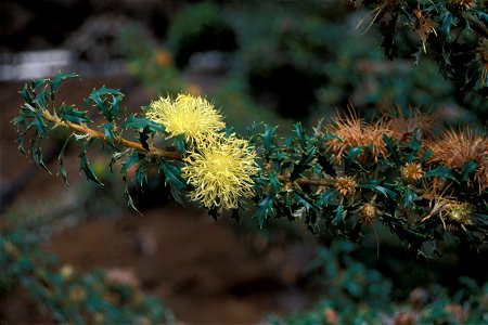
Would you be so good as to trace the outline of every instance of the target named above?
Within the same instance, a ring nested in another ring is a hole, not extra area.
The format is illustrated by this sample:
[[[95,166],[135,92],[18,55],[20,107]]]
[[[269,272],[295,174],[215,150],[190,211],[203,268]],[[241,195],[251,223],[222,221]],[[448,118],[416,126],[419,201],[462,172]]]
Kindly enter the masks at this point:
[[[2,226],[0,287],[22,286],[40,312],[57,323],[174,323],[172,313],[153,297],[102,271],[81,274],[39,249],[33,233]]]

